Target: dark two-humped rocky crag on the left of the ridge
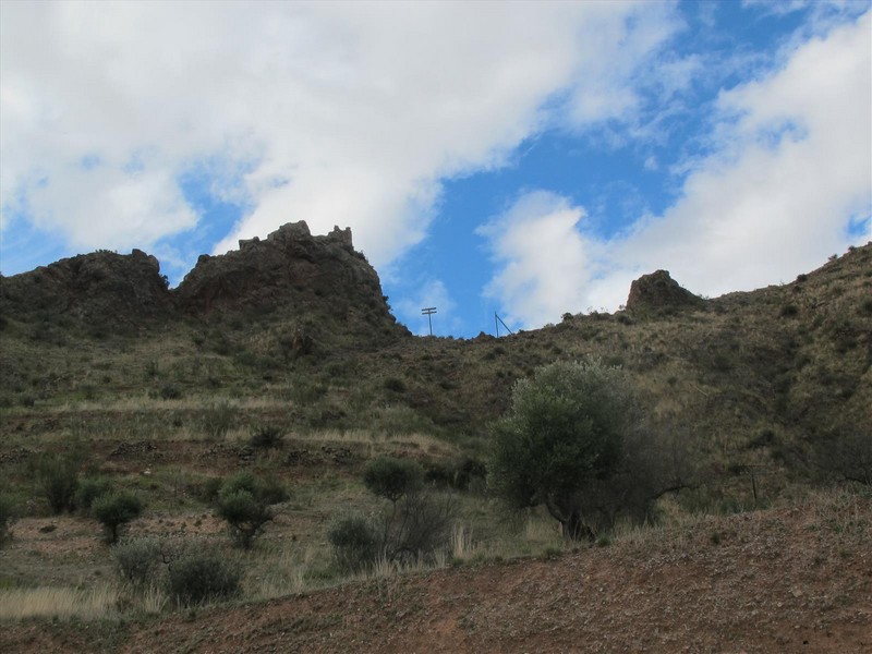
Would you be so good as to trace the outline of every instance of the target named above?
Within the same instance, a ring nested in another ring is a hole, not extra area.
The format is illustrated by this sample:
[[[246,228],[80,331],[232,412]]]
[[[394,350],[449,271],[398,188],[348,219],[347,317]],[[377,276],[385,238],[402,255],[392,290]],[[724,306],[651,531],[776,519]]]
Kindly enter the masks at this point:
[[[192,316],[208,325],[271,315],[293,320],[303,340],[337,342],[346,335],[356,347],[408,335],[388,310],[378,275],[354,251],[351,230],[313,237],[303,221],[264,241],[241,241],[238,251],[202,255],[178,289],[168,288],[158,261],[140,250],[95,252],[0,277],[0,315],[86,332],[166,330]]]

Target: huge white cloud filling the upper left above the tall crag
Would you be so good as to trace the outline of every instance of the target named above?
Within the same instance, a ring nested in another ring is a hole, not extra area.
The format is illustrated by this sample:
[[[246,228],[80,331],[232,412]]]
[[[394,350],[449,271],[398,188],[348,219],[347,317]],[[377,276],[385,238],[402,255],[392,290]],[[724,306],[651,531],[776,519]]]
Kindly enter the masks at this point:
[[[634,66],[674,14],[662,3],[5,3],[3,225],[29,208],[83,246],[147,245],[191,227],[174,180],[209,161],[216,194],[251,209],[218,250],[305,219],[316,233],[350,225],[385,264],[424,237],[441,179],[501,165],[555,97],[582,126],[631,113]],[[77,168],[92,156],[99,166]]]

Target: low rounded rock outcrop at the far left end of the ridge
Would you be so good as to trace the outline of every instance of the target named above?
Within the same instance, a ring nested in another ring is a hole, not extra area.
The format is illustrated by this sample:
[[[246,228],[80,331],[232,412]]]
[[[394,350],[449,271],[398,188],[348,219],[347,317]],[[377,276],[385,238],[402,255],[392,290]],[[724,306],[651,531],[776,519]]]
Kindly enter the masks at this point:
[[[99,329],[136,329],[174,312],[154,256],[94,252],[0,278],[0,311],[29,319],[73,319]]]

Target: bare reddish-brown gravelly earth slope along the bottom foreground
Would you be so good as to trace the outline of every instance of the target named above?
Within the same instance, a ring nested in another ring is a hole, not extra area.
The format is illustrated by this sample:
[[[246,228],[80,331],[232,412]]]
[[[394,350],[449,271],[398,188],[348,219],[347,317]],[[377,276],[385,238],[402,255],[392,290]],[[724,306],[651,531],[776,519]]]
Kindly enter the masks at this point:
[[[650,529],[555,559],[129,625],[25,622],[4,652],[872,652],[872,502]]]

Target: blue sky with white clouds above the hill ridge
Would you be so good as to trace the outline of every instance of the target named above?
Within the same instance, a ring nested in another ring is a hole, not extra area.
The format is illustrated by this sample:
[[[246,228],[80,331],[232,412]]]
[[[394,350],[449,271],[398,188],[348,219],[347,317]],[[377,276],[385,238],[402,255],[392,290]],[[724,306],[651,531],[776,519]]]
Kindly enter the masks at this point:
[[[871,58],[867,0],[3,0],[0,272],[305,220],[464,338],[786,283],[872,240]]]

